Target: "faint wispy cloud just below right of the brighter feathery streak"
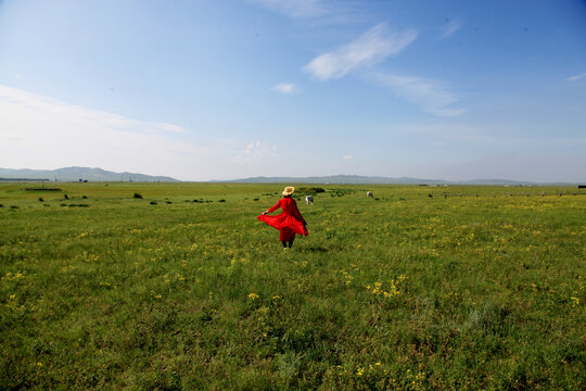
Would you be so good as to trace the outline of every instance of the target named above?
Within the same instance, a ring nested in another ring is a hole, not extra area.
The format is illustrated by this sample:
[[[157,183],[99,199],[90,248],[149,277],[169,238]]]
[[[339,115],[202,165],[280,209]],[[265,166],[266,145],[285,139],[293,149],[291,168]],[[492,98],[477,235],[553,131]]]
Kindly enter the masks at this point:
[[[384,74],[377,74],[374,77],[378,83],[391,88],[398,97],[419,105],[426,113],[449,117],[460,115],[466,111],[449,108],[457,102],[457,99],[437,81]]]

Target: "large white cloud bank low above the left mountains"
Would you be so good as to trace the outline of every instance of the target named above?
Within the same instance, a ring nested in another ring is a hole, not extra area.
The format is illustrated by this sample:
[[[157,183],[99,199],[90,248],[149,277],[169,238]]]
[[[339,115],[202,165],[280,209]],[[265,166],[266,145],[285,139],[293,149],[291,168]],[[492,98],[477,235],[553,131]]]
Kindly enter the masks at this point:
[[[190,178],[204,160],[230,152],[218,149],[220,143],[194,142],[179,125],[132,119],[5,86],[0,86],[0,129],[1,167],[80,165]]]

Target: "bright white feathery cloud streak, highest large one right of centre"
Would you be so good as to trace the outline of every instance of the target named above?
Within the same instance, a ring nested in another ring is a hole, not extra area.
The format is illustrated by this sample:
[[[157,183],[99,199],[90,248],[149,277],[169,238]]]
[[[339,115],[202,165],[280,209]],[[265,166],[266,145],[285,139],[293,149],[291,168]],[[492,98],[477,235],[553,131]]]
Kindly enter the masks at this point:
[[[315,58],[304,70],[321,80],[341,78],[349,72],[374,65],[388,55],[399,53],[416,38],[416,30],[392,33],[385,24],[379,24],[358,39]]]

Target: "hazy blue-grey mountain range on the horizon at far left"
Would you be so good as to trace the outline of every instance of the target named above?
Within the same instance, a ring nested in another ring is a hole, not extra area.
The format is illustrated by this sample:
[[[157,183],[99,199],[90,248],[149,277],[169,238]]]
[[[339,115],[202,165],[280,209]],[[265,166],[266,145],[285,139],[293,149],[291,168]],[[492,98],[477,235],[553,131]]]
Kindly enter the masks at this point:
[[[58,180],[58,181],[179,181],[166,176],[136,173],[114,173],[102,168],[65,167],[58,169],[0,168],[0,180]]]

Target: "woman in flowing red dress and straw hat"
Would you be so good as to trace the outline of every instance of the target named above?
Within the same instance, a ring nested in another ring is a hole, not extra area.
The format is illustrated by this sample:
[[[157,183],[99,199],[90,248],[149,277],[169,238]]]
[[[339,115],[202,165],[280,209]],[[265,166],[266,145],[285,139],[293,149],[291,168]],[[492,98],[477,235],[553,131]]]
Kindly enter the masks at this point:
[[[294,187],[285,187],[283,190],[283,198],[280,199],[275,206],[256,217],[260,222],[267,223],[269,226],[277,228],[281,232],[279,240],[283,243],[285,250],[288,243],[290,249],[293,245],[295,234],[305,236],[308,234],[306,227],[307,223],[301,215],[297,203],[291,198],[293,191],[295,191]],[[276,216],[268,215],[268,213],[276,211],[279,207],[283,210],[283,213]]]

